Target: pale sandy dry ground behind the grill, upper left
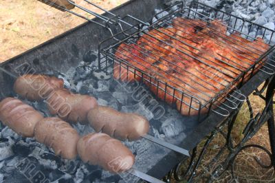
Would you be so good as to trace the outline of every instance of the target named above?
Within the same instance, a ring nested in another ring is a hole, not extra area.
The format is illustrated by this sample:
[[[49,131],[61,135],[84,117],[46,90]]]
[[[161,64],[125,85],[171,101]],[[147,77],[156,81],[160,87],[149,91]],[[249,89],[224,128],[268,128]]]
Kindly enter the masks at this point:
[[[125,1],[127,0],[94,0],[93,2],[110,10]],[[75,2],[80,5],[87,4],[83,0]],[[97,8],[91,6],[89,8],[101,12]],[[83,22],[83,19],[51,8],[37,0],[1,0],[0,63]]]

